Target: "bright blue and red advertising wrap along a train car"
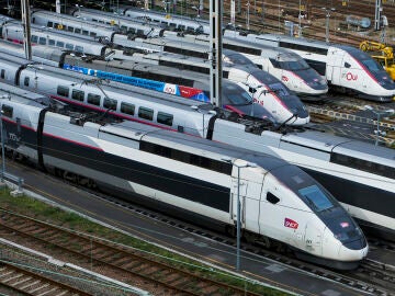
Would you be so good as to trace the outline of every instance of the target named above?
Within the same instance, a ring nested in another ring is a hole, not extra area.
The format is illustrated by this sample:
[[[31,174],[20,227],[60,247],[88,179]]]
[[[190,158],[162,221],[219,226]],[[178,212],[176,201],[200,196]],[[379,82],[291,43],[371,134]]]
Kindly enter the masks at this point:
[[[195,89],[195,88],[172,84],[172,83],[166,83],[166,82],[161,82],[161,81],[155,81],[155,80],[138,78],[138,77],[119,75],[119,73],[113,73],[113,72],[106,72],[106,71],[90,69],[90,68],[86,68],[86,67],[72,66],[72,65],[68,65],[68,64],[64,65],[64,69],[89,75],[89,76],[94,76],[94,77],[102,78],[102,79],[109,79],[112,81],[117,81],[117,82],[135,86],[138,88],[155,90],[158,92],[166,92],[166,93],[174,94],[174,95],[182,96],[185,99],[191,99],[191,100],[201,101],[201,102],[210,102],[210,98],[203,92],[203,90]]]

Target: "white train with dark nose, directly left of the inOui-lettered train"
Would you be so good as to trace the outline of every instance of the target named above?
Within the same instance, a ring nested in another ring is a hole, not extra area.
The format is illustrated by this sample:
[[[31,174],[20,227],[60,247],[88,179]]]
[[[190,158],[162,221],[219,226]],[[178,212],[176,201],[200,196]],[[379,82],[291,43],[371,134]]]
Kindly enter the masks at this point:
[[[160,48],[162,52],[167,53],[210,59],[208,43],[199,42],[199,36],[193,35],[193,39],[191,39],[176,35],[165,35],[166,36],[154,38],[135,38],[134,42],[142,43],[139,48],[144,48],[147,52],[157,52],[158,48]],[[146,47],[144,47],[144,45]],[[328,92],[326,80],[296,54],[281,49],[278,50],[269,46],[266,48],[263,48],[263,46],[261,46],[262,48],[258,48],[251,43],[248,44],[245,42],[238,44],[237,42],[226,39],[224,39],[223,46],[226,48],[223,50],[225,60],[232,59],[232,55],[228,54],[229,50],[230,53],[239,53],[248,58],[251,64],[275,77],[291,91],[296,94],[302,94],[305,100],[318,101],[320,100],[320,95]],[[242,48],[246,50],[241,50]],[[233,62],[236,64],[238,60]]]

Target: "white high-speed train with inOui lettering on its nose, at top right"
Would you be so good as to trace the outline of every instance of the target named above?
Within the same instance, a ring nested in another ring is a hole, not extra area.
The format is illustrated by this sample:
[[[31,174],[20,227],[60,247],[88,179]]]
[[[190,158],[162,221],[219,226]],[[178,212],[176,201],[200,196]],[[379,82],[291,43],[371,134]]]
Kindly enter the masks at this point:
[[[245,37],[235,31],[225,31],[224,35],[291,49],[337,91],[380,102],[394,100],[394,81],[382,66],[359,48],[284,35],[248,34]]]

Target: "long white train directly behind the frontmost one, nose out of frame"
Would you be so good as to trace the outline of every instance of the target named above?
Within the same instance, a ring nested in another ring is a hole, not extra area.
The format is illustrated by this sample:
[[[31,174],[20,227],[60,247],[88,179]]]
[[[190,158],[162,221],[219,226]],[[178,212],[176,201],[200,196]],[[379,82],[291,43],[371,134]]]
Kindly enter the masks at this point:
[[[361,225],[395,239],[395,150],[314,130],[273,130],[268,123],[247,117],[233,122],[232,116],[224,118],[218,111],[215,115],[193,101],[185,104],[184,99],[180,99],[183,103],[148,99],[148,91],[131,98],[131,91],[103,87],[105,96],[97,87],[81,83],[79,73],[41,67],[23,68],[0,58],[1,78],[20,87],[52,92],[55,99],[92,110],[116,109],[110,113],[283,158],[325,184]],[[200,110],[191,109],[193,103]],[[316,241],[320,243],[320,238]]]

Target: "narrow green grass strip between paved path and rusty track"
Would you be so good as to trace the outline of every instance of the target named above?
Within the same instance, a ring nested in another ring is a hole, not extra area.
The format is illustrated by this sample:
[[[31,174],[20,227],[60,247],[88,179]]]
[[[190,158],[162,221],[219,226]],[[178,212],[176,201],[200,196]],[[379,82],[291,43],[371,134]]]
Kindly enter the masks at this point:
[[[192,261],[179,254],[160,249],[156,246],[140,241],[133,237],[115,232],[113,229],[94,224],[77,214],[65,212],[58,207],[53,207],[38,200],[20,196],[13,197],[10,195],[9,190],[0,191],[1,207],[10,212],[19,213],[29,217],[34,217],[38,220],[58,225],[71,230],[91,234],[95,237],[101,237],[113,242],[122,243],[139,250],[145,250],[155,255],[160,255],[160,260],[167,264],[182,267],[193,273],[204,274],[206,277],[239,286],[248,292],[255,292],[261,295],[279,296],[289,295],[272,288],[263,287],[257,283],[246,282],[242,278],[235,277],[234,275],[215,271],[211,266],[204,266],[200,262]],[[0,214],[1,215],[1,214]]]

